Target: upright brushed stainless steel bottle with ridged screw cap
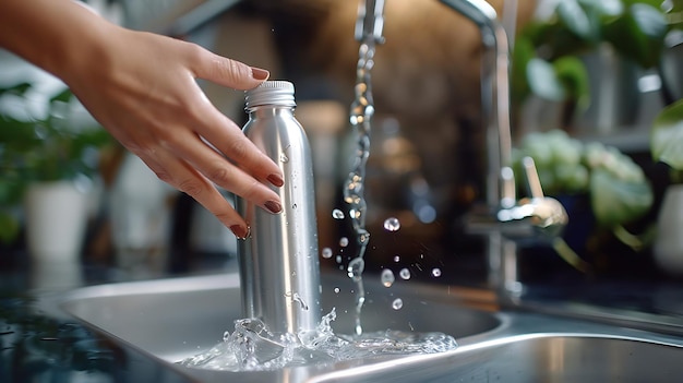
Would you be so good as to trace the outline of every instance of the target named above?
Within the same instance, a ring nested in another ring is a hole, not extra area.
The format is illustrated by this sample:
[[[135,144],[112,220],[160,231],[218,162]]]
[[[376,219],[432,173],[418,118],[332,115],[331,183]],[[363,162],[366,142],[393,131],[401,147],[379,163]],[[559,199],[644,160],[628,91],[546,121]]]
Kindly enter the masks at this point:
[[[237,208],[251,226],[239,244],[242,304],[247,318],[261,319],[273,333],[313,330],[321,320],[317,225],[311,149],[296,120],[293,85],[267,81],[245,92],[244,134],[283,170],[275,191],[280,214],[243,199]]]

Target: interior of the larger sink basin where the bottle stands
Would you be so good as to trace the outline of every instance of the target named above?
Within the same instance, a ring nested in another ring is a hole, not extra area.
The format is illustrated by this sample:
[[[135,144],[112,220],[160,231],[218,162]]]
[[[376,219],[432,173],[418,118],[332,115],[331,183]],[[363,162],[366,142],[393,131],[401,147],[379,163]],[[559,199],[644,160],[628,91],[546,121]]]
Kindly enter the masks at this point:
[[[494,313],[444,302],[445,290],[435,292],[409,280],[385,288],[379,277],[366,279],[366,332],[441,332],[460,339],[502,323]],[[354,288],[346,277],[323,277],[322,307],[324,312],[335,308],[332,326],[337,334],[354,333]],[[400,310],[392,308],[396,298],[403,300]],[[213,347],[242,318],[237,274],[87,287],[67,294],[59,306],[95,330],[170,363]]]

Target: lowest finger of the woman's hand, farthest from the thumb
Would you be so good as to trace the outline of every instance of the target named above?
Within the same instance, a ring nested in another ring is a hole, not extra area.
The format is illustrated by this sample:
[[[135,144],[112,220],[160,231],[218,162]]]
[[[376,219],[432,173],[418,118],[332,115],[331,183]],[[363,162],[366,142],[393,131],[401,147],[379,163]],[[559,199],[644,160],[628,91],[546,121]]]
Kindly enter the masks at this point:
[[[160,160],[143,156],[140,158],[161,181],[193,198],[229,228],[237,238],[243,239],[249,236],[247,222],[205,177],[181,160],[163,153],[163,151],[158,153]]]

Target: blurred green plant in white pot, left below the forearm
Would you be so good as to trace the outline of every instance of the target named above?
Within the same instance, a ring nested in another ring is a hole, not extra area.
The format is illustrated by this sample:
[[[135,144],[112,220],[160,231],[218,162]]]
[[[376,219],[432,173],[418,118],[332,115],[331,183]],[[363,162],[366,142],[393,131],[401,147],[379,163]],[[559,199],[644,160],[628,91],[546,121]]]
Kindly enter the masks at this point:
[[[84,187],[109,135],[63,83],[26,73],[0,88],[0,239],[15,240],[24,217],[32,255],[73,258],[85,228]]]

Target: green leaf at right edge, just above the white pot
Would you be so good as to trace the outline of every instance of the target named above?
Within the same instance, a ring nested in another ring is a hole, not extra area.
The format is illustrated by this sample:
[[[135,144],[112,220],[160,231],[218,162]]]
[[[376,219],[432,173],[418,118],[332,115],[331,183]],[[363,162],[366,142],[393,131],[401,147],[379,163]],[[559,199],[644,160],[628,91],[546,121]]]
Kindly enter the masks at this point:
[[[683,99],[662,109],[650,131],[652,158],[683,170]]]

